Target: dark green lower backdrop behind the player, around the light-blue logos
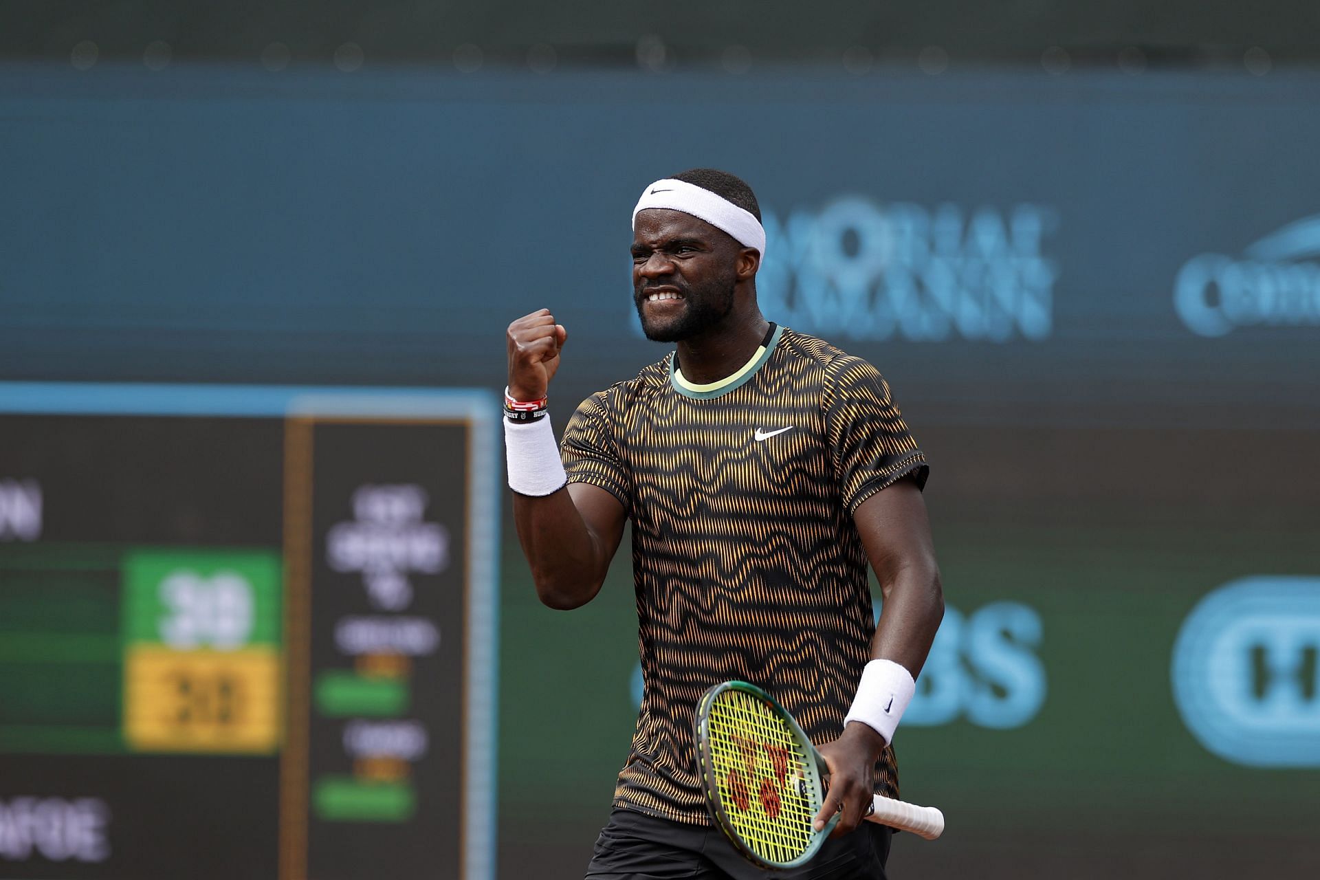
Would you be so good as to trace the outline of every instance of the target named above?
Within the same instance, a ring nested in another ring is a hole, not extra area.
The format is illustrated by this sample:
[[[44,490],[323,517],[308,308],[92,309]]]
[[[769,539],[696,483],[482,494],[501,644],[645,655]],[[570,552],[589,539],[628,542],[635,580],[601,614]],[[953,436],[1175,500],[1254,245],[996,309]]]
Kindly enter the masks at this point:
[[[1320,516],[1304,503],[1320,437],[909,421],[933,459],[946,603],[1035,608],[1048,693],[1014,730],[900,727],[903,794],[940,806],[948,831],[899,835],[891,875],[1313,876],[1320,770],[1205,751],[1177,714],[1170,664],[1206,592],[1320,569]],[[1267,464],[1224,467],[1247,447]],[[539,876],[578,877],[632,732],[627,544],[581,610],[540,607],[512,541],[503,590],[502,876],[535,859]]]

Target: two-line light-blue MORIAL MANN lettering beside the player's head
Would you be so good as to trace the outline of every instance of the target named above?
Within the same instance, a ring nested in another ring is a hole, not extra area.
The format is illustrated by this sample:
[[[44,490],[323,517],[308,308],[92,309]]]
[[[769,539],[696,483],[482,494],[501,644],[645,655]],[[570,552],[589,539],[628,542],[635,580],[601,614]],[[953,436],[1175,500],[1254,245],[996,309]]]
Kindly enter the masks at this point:
[[[883,207],[845,197],[785,219],[766,211],[767,260],[756,276],[762,310],[800,330],[841,339],[1006,343],[1053,330],[1057,265],[1043,239],[1048,207],[972,211],[957,204]]]

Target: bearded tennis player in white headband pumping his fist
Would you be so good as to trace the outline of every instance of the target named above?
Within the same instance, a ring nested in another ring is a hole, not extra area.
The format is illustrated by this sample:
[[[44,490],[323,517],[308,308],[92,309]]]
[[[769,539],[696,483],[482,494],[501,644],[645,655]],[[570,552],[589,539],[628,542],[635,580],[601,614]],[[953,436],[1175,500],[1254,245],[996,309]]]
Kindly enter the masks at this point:
[[[731,678],[820,745],[817,827],[841,813],[818,856],[779,876],[883,877],[890,831],[861,819],[873,792],[898,796],[890,741],[944,612],[925,456],[871,364],[762,317],[766,232],[743,181],[656,181],[632,230],[642,326],[676,351],[591,394],[560,447],[545,406],[568,331],[541,309],[507,334],[513,517],[541,602],[590,602],[632,521],[644,697],[587,877],[763,876],[697,780],[696,705]]]

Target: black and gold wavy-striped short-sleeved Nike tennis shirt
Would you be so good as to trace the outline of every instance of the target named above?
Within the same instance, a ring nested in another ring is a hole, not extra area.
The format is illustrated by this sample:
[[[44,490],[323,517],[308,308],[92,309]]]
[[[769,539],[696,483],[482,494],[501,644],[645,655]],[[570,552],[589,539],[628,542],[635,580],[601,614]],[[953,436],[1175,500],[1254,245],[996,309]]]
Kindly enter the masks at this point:
[[[693,712],[738,678],[820,744],[842,732],[874,632],[853,512],[927,476],[880,373],[771,325],[747,365],[693,385],[675,355],[582,402],[561,445],[569,480],[632,520],[644,691],[615,805],[709,823]],[[898,794],[894,752],[876,790]]]

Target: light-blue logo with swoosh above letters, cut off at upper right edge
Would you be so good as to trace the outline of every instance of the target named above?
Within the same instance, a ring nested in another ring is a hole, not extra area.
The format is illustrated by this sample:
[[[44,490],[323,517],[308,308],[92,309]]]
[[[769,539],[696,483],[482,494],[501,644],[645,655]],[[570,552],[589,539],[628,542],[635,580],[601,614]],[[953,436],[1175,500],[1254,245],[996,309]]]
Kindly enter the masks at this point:
[[[1245,259],[1222,253],[1192,257],[1173,284],[1173,307],[1200,336],[1222,336],[1250,326],[1317,326],[1317,257],[1320,214],[1265,236],[1246,249]]]

